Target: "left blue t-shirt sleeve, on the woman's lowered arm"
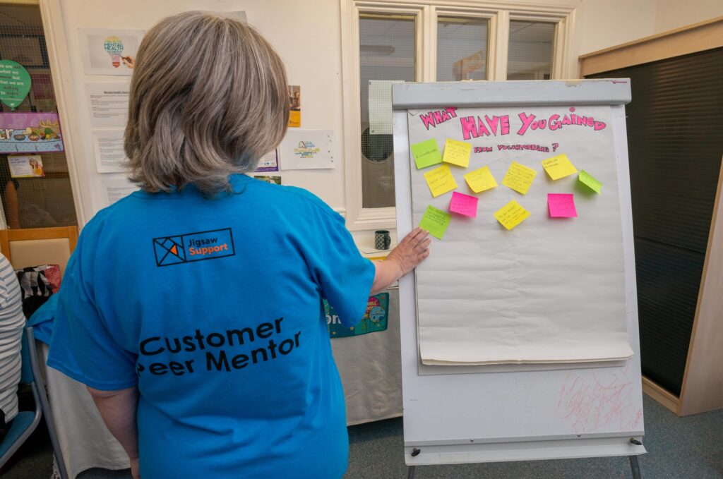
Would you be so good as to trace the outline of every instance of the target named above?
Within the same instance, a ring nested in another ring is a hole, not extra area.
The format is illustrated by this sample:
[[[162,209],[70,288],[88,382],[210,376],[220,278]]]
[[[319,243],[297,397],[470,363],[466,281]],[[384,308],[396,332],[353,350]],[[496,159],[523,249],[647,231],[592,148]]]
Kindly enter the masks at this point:
[[[103,391],[133,387],[136,355],[119,345],[96,308],[83,282],[81,250],[79,241],[58,292],[48,366]]]

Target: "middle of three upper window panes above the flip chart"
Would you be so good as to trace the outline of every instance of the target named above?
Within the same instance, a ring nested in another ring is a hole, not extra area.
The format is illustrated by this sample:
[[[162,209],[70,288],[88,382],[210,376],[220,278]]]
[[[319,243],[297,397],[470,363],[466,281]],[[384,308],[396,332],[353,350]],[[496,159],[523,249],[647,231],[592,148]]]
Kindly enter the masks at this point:
[[[437,21],[437,82],[487,79],[489,20],[440,17]]]

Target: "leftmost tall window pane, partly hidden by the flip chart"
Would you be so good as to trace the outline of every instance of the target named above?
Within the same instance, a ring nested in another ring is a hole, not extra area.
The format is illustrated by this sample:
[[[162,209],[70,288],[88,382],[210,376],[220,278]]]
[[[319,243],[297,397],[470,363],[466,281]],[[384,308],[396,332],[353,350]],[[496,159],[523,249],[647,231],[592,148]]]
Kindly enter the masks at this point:
[[[394,206],[390,85],[378,80],[414,82],[415,36],[411,16],[362,14],[359,18],[361,205],[364,208]],[[369,108],[372,109],[371,123]]]

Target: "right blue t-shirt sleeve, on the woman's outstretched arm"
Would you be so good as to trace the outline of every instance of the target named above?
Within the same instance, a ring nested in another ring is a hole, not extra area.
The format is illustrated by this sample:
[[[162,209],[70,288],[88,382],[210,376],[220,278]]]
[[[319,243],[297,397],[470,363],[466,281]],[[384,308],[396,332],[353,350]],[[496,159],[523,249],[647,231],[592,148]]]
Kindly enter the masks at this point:
[[[353,326],[364,317],[376,267],[359,253],[343,217],[325,208],[315,225],[317,247],[311,252],[310,267],[342,324]]]

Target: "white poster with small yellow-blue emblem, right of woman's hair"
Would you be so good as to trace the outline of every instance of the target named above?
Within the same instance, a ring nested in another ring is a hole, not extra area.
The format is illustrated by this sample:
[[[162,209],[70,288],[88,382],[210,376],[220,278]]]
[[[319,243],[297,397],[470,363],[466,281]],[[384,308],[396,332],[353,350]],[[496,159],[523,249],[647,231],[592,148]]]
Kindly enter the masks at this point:
[[[279,146],[281,170],[334,168],[332,130],[288,130]]]

